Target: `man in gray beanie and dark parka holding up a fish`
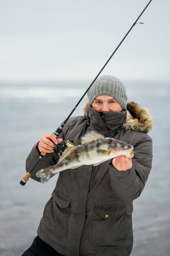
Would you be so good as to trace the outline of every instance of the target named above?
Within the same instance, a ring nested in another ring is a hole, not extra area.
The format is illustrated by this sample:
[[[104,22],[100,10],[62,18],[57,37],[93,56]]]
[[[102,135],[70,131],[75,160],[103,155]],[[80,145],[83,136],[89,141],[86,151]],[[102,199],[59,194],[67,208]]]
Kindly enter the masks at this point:
[[[127,110],[128,109],[128,110]],[[54,165],[55,145],[95,130],[134,146],[134,157],[119,156],[98,166],[62,171],[47,202],[38,237],[22,256],[128,256],[132,250],[132,201],[144,189],[152,165],[152,117],[146,108],[128,102],[124,84],[100,76],[88,91],[84,117],[72,117],[60,138],[46,134],[26,159],[30,170],[41,151],[47,152],[36,172]]]

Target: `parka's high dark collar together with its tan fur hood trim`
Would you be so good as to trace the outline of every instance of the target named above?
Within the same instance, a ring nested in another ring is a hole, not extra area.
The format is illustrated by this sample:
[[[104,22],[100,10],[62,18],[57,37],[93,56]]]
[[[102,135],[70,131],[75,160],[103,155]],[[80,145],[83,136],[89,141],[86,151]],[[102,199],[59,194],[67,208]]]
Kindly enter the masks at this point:
[[[89,106],[87,101],[84,107],[84,116],[87,119],[88,125],[91,125],[93,130],[105,136],[113,135],[114,131],[116,132],[117,128],[121,125],[125,130],[138,130],[148,133],[152,129],[153,123],[153,117],[150,115],[149,110],[133,101],[128,101],[127,111],[108,112],[108,116],[104,116],[104,120],[96,110]],[[115,120],[114,123],[112,123],[112,119]],[[119,121],[121,121],[121,124]]]

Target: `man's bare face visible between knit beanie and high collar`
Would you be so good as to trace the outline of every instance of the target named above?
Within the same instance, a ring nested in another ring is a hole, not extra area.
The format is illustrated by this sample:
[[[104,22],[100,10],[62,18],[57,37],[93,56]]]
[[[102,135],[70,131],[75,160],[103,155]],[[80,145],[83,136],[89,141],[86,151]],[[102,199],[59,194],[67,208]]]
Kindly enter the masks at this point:
[[[97,96],[92,103],[92,108],[97,112],[120,112],[122,110],[120,104],[108,95]]]

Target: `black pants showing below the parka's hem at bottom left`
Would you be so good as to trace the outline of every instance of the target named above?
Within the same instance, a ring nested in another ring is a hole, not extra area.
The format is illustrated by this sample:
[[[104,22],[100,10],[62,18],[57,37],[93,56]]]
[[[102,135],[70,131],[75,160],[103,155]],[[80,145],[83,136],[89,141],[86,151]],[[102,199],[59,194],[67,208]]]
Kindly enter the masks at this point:
[[[42,241],[39,236],[35,237],[32,245],[21,256],[64,256],[59,254],[50,245]]]

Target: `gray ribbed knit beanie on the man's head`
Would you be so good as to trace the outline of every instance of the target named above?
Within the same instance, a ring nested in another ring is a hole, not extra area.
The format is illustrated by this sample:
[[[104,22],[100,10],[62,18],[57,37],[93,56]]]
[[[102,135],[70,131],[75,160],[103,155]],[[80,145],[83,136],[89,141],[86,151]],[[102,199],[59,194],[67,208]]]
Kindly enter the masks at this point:
[[[127,94],[125,85],[115,76],[99,76],[87,92],[89,105],[99,95],[108,95],[117,100],[123,110],[127,107]]]

